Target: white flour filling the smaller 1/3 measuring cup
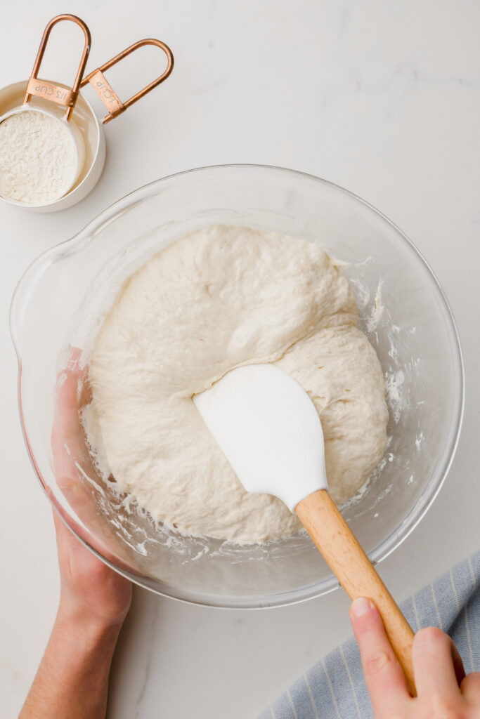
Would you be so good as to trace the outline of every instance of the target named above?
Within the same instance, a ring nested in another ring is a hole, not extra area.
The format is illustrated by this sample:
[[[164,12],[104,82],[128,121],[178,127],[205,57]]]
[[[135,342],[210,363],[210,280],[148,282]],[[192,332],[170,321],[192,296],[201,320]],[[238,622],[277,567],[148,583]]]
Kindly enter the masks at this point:
[[[25,110],[0,122],[1,196],[26,204],[60,198],[76,164],[76,142],[60,119]]]

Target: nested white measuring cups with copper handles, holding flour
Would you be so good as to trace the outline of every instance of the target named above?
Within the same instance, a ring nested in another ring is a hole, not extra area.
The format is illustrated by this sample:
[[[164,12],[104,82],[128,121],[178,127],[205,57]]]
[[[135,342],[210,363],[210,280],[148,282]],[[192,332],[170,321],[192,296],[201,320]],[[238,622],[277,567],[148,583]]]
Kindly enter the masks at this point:
[[[40,80],[40,69],[51,29],[61,20],[78,24],[85,42],[71,88]],[[126,55],[143,45],[156,45],[167,66],[152,83],[122,102],[104,77]],[[149,38],[135,42],[83,78],[89,57],[89,28],[75,15],[58,15],[47,24],[30,80],[0,90],[0,198],[35,211],[56,211],[76,204],[98,182],[105,161],[102,125],[122,114],[153,90],[173,69],[170,48]],[[90,84],[108,113],[101,123],[80,89]],[[30,104],[32,97],[35,105]]]

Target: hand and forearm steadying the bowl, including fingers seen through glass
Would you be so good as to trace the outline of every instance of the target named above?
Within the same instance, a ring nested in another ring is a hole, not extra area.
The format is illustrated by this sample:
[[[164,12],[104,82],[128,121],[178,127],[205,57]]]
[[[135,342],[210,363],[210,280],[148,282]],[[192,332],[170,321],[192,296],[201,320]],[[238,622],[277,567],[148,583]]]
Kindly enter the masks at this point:
[[[132,600],[131,582],[101,562],[60,519],[68,520],[78,536],[119,564],[112,551],[112,532],[79,476],[92,481],[96,477],[79,414],[89,402],[88,369],[80,367],[80,357],[81,350],[72,349],[59,374],[52,429],[55,480],[79,521],[44,485],[58,512],[54,521],[60,604],[20,719],[104,719],[112,656]]]

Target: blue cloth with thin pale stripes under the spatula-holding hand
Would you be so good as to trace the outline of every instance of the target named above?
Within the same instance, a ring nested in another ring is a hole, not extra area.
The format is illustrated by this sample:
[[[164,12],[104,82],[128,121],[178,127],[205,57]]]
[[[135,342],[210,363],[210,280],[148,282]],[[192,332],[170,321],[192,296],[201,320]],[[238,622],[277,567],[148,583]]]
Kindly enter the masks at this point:
[[[480,671],[480,552],[402,604],[412,629],[450,634],[466,673]],[[298,679],[258,719],[373,719],[354,639]]]

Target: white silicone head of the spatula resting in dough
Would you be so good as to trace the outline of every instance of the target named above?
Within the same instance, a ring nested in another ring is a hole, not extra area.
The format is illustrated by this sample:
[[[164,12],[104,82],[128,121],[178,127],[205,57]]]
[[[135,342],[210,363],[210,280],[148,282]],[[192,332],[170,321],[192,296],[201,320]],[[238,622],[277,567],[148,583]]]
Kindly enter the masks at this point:
[[[248,492],[276,495],[293,512],[327,488],[317,410],[279,367],[237,367],[193,399]]]

